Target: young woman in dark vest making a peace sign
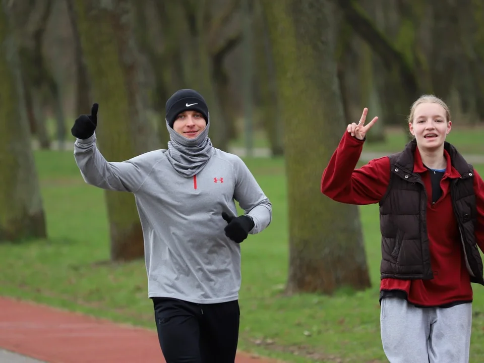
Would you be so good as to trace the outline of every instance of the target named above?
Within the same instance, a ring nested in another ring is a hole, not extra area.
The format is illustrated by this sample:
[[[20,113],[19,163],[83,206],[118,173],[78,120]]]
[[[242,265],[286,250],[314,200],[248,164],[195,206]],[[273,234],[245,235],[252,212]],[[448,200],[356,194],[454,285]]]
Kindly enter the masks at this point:
[[[365,125],[347,126],[321,179],[329,198],[379,203],[382,233],[381,338],[391,363],[469,361],[471,282],[484,284],[484,184],[445,141],[447,105],[423,95],[410,110],[414,139],[403,151],[354,169]]]

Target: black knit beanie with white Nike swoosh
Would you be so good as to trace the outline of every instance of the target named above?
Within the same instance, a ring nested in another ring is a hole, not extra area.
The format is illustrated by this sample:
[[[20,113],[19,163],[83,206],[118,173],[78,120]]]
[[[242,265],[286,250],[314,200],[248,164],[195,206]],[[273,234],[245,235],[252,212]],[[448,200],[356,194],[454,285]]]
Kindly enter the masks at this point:
[[[208,124],[208,106],[202,95],[195,90],[181,89],[166,101],[166,120],[170,128],[173,128],[176,116],[189,110],[200,112]]]

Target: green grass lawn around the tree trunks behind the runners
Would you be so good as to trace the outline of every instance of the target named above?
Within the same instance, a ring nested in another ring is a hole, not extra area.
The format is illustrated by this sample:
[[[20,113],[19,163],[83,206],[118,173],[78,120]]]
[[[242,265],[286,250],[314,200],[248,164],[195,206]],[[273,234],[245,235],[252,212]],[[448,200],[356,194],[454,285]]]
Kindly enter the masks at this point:
[[[0,294],[154,329],[144,262],[106,263],[103,191],[84,184],[72,152],[35,156],[49,239],[0,245]],[[273,203],[273,222],[242,246],[240,349],[288,362],[386,361],[379,330],[378,206],[361,207],[372,288],[342,290],[333,297],[283,296],[288,261],[284,162],[247,163]],[[484,174],[483,165],[477,168]],[[484,289],[474,290],[473,362],[484,361]]]

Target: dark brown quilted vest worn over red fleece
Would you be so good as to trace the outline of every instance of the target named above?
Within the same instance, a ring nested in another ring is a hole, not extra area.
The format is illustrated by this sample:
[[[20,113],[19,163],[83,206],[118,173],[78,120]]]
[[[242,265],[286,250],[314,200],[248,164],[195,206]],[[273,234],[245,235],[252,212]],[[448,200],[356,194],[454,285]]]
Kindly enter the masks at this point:
[[[415,140],[402,152],[390,155],[390,183],[380,201],[382,234],[381,278],[432,279],[426,226],[427,193],[418,173],[413,173]],[[473,186],[474,169],[449,143],[444,148],[461,174],[450,182],[454,214],[460,230],[471,282],[484,285],[482,259],[475,243],[477,220]]]

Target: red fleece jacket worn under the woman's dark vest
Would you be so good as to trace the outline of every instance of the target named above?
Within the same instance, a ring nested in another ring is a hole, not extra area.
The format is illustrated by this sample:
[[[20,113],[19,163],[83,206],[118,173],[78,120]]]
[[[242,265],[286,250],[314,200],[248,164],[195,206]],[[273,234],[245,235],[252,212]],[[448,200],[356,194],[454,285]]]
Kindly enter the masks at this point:
[[[390,181],[390,159],[385,156],[371,160],[355,169],[361,155],[363,141],[345,132],[321,178],[321,192],[329,198],[356,205],[379,203]],[[408,301],[419,306],[441,306],[457,301],[472,300],[470,277],[465,267],[457,221],[450,197],[450,180],[460,177],[451,166],[449,154],[447,171],[440,186],[442,196],[432,203],[432,184],[429,171],[415,149],[414,172],[421,175],[427,190],[427,229],[431,254],[432,280],[382,279],[381,290],[403,290]],[[475,238],[484,249],[484,183],[474,170],[474,191],[477,200]],[[372,242],[374,243],[374,242]],[[375,241],[376,243],[376,241]]]

